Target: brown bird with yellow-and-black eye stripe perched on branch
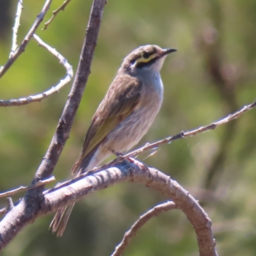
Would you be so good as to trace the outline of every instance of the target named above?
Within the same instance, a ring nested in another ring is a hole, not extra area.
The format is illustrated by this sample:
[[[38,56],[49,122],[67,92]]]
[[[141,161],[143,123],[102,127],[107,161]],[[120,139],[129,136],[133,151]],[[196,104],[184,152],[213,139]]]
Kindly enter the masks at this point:
[[[142,45],[128,54],[93,115],[83,148],[71,173],[77,176],[98,166],[113,152],[134,147],[152,125],[163,102],[160,70],[176,49]],[[74,204],[59,209],[50,225],[62,236]]]

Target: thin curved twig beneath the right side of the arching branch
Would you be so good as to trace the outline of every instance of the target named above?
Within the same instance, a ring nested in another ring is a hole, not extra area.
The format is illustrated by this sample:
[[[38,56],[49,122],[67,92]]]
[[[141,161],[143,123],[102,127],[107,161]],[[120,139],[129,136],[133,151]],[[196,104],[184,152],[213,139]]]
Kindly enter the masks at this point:
[[[115,248],[115,252],[111,256],[120,256],[124,253],[125,249],[129,245],[132,237],[136,236],[138,230],[143,227],[151,218],[158,216],[161,212],[170,211],[172,209],[177,209],[176,205],[172,201],[168,201],[163,204],[155,206],[153,209],[150,209],[145,214],[143,214],[139,220],[137,220],[132,227],[125,232],[124,238],[118,246]]]

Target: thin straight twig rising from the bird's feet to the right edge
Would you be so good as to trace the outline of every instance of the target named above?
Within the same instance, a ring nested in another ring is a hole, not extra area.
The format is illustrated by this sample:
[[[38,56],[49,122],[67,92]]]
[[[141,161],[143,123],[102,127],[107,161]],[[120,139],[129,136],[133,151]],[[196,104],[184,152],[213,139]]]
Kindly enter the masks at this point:
[[[151,149],[156,149],[160,145],[163,145],[163,144],[166,144],[166,143],[171,143],[172,141],[178,140],[178,139],[193,137],[193,136],[195,136],[197,134],[200,134],[202,132],[206,132],[206,131],[215,129],[219,125],[227,124],[231,120],[234,120],[234,119],[238,118],[239,116],[243,115],[246,111],[248,111],[252,108],[255,108],[255,106],[256,106],[256,100],[252,104],[244,106],[242,109],[240,109],[239,111],[236,111],[232,115],[225,116],[221,120],[216,121],[212,124],[205,125],[205,126],[202,126],[202,127],[199,127],[197,129],[187,131],[187,132],[181,131],[179,134],[176,134],[175,136],[170,136],[168,138],[165,138],[164,140],[159,140],[159,141],[156,141],[154,143],[146,143],[143,147],[140,147],[136,150],[133,150],[133,151],[131,151],[131,152],[129,152],[129,153],[123,155],[123,156],[118,156],[113,161],[110,161],[106,164],[102,164],[101,166],[99,166],[97,168],[94,168],[91,172],[81,174],[81,177],[86,177],[87,175],[90,175],[92,173],[99,172],[99,170],[102,170],[103,168],[111,166],[111,165],[117,163],[118,161],[122,161],[122,159],[125,159],[127,157],[138,156],[138,154],[140,154],[141,152],[145,152],[145,151],[151,150]]]

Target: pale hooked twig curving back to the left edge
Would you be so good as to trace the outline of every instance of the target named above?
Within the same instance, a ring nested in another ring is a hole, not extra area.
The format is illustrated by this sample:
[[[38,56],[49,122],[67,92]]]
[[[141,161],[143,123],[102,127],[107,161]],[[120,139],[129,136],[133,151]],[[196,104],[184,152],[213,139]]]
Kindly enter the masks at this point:
[[[56,84],[55,86],[52,86],[51,89],[36,94],[36,95],[30,95],[28,97],[20,98],[20,99],[11,99],[11,100],[0,100],[0,107],[8,107],[8,106],[21,106],[25,104],[29,104],[31,102],[41,101],[53,93],[58,93],[60,89],[65,86],[65,84],[69,83],[74,76],[73,68],[68,63],[67,59],[65,59],[59,52],[56,51],[56,49],[53,49],[51,46],[45,44],[37,35],[33,35],[33,38],[38,42],[38,44],[45,49],[47,49],[53,56],[58,58],[60,60],[60,63],[66,68],[67,70],[67,76],[65,76],[63,79],[60,80],[60,83]]]

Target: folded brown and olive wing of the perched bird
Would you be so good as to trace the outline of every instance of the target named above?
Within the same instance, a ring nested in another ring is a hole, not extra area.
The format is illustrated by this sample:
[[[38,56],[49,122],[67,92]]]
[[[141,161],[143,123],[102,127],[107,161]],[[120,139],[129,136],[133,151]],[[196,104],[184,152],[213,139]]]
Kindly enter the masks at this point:
[[[83,150],[72,173],[77,172],[84,159],[109,132],[129,116],[140,102],[142,84],[135,77],[117,76],[100,103],[84,139]]]

